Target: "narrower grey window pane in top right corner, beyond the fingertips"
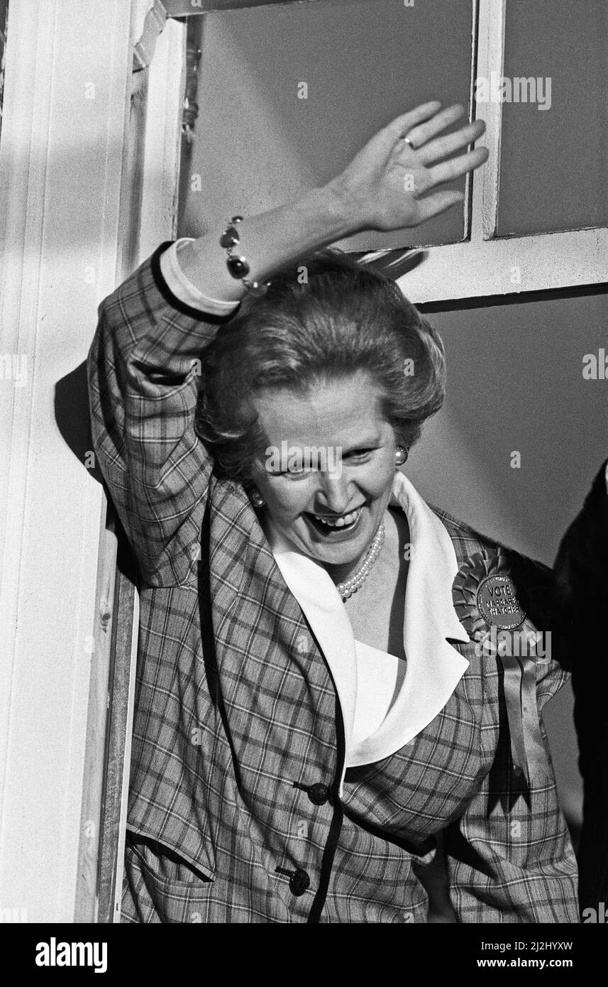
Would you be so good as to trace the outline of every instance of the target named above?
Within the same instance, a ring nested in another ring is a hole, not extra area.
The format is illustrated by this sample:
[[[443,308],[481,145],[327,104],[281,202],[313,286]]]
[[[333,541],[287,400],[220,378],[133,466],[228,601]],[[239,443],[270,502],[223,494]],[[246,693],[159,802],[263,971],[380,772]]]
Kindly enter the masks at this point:
[[[500,236],[608,225],[607,42],[606,0],[508,0],[505,77],[537,102],[503,107]]]

